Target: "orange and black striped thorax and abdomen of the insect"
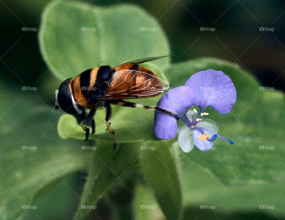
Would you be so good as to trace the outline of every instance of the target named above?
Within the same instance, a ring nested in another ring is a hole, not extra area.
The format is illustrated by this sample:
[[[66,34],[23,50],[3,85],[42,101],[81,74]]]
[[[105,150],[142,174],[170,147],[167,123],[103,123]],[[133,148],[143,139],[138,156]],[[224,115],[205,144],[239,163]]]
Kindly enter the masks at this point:
[[[96,109],[98,105],[102,106],[102,103],[97,104],[100,100],[147,98],[159,95],[159,93],[146,95],[146,91],[140,89],[149,86],[159,90],[164,86],[152,71],[137,64],[141,61],[144,60],[134,60],[114,68],[95,67],[72,78],[69,81],[69,88],[74,95],[75,103],[85,108]],[[134,71],[130,73],[132,70]],[[151,84],[145,74],[153,76]]]

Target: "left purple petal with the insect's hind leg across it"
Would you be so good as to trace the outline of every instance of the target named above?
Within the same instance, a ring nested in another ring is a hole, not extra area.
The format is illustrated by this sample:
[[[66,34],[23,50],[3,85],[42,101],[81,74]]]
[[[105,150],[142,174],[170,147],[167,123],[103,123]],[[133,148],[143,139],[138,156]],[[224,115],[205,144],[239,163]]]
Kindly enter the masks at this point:
[[[186,113],[194,100],[195,93],[190,87],[179,86],[165,93],[158,101],[157,106],[180,116]],[[178,131],[177,120],[173,116],[156,110],[154,112],[153,131],[157,138],[173,138]]]

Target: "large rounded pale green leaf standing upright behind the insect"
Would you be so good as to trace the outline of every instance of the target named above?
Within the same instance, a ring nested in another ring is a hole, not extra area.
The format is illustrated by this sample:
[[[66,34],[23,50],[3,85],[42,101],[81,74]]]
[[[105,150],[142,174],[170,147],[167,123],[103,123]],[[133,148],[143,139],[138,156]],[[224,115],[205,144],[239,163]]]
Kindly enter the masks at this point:
[[[156,30],[141,31],[143,27]],[[47,65],[62,80],[96,67],[102,60],[117,66],[169,54],[167,38],[156,19],[129,4],[99,7],[52,1],[43,12],[39,44]],[[152,62],[164,68],[169,61]]]

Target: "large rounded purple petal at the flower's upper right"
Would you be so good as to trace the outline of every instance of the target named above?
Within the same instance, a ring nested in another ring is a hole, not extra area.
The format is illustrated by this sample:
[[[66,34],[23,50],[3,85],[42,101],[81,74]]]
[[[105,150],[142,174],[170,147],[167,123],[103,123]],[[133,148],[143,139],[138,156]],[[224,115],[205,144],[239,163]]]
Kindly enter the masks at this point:
[[[219,113],[225,114],[232,109],[237,97],[232,80],[222,71],[209,69],[195,73],[185,85],[195,91],[193,104],[200,109],[212,106]]]

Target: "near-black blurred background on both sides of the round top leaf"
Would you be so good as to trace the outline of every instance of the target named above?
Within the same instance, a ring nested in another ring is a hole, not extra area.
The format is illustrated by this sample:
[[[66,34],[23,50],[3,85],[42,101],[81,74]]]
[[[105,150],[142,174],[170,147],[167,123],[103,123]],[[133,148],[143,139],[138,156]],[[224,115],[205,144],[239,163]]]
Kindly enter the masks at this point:
[[[47,76],[38,80],[48,71],[40,55],[37,39],[41,13],[48,2],[0,1],[0,74],[4,75],[1,78],[7,83],[42,85],[50,77],[51,74],[47,72]],[[285,88],[285,1],[86,2],[94,5],[132,3],[143,7],[164,28],[171,46],[172,62],[199,57],[221,58],[239,64],[264,86],[281,90]],[[23,27],[38,30],[22,31]],[[200,31],[201,27],[216,30]],[[259,31],[260,27],[275,30]]]

